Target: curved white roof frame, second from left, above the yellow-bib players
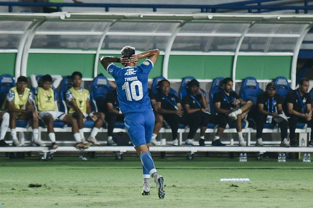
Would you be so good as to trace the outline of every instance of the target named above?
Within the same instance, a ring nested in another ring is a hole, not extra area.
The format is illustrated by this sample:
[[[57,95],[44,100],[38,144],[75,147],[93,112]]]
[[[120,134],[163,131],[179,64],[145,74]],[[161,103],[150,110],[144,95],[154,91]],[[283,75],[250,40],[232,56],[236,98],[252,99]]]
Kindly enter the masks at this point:
[[[40,25],[42,25],[42,23],[44,23],[44,22],[45,22],[45,19],[36,22],[36,24],[33,26],[31,31],[29,32],[28,38],[27,38],[25,45],[24,45],[23,54],[22,54],[21,76],[26,76],[28,52],[29,52],[30,45],[34,39],[37,28]]]

